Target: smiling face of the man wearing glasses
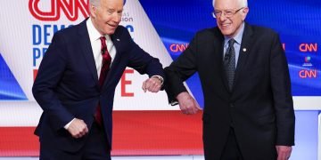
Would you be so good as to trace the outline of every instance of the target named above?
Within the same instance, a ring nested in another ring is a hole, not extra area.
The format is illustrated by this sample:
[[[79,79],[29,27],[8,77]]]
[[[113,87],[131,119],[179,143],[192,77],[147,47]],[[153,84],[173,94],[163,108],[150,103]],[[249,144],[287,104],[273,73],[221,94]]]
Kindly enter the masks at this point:
[[[243,9],[239,10],[242,7]],[[241,25],[249,12],[249,8],[243,6],[240,3],[240,0],[216,0],[214,9],[216,12],[235,12],[235,15],[229,18],[226,18],[225,13],[222,13],[221,16],[217,17],[218,28],[224,36],[231,38],[239,32]],[[237,10],[239,11],[236,12]]]

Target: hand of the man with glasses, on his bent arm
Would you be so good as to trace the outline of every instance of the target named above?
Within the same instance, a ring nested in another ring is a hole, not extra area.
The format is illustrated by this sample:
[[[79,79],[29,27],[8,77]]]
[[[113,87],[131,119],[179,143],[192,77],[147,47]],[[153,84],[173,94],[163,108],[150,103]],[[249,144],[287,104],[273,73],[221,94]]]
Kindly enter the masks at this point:
[[[177,100],[179,108],[186,115],[191,115],[197,113],[197,111],[202,110],[200,105],[188,92],[181,92],[177,95]]]

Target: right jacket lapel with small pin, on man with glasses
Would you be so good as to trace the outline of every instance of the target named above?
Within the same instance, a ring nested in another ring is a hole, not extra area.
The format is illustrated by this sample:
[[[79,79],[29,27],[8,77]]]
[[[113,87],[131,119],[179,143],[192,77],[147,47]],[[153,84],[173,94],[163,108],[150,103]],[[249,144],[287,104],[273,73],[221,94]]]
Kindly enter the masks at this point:
[[[243,37],[242,37],[242,44],[239,52],[239,59],[237,62],[236,70],[235,70],[235,85],[238,83],[238,79],[240,77],[240,74],[242,73],[244,64],[246,63],[246,60],[249,57],[250,51],[251,51],[251,44],[253,38],[251,36],[253,35],[253,31],[251,29],[251,26],[247,23],[245,24]],[[234,85],[234,88],[235,88]]]

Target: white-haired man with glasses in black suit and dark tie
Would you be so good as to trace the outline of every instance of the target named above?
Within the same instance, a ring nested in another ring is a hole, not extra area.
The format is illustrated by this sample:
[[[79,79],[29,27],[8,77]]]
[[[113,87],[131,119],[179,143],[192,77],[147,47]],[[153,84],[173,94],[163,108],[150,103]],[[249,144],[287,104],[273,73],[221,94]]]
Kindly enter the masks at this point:
[[[294,145],[294,111],[279,36],[244,22],[246,0],[213,1],[217,28],[199,31],[165,73],[169,102],[200,108],[183,82],[199,73],[207,160],[284,160]]]

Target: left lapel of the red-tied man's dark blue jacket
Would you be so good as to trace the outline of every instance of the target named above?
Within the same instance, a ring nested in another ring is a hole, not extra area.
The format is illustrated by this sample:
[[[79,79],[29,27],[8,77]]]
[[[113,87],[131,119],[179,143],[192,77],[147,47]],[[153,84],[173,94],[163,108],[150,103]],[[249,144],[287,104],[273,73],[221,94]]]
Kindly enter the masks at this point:
[[[86,19],[88,20],[88,19]],[[99,89],[99,82],[98,82],[98,76],[97,76],[97,69],[95,67],[95,59],[94,59],[94,54],[93,54],[93,50],[90,44],[90,38],[88,35],[88,31],[86,28],[86,20],[84,20],[83,22],[81,22],[79,24],[79,29],[78,29],[78,33],[79,33],[79,41],[80,41],[80,47],[82,48],[82,55],[85,57],[86,60],[86,66],[89,68],[92,76],[93,76],[93,80],[95,81],[96,87],[97,89]]]

